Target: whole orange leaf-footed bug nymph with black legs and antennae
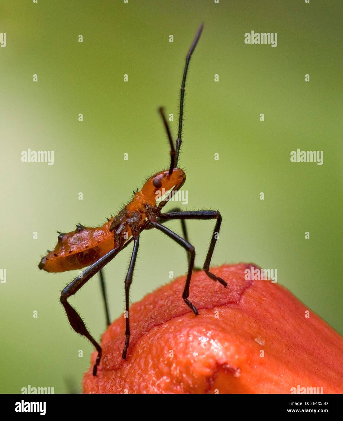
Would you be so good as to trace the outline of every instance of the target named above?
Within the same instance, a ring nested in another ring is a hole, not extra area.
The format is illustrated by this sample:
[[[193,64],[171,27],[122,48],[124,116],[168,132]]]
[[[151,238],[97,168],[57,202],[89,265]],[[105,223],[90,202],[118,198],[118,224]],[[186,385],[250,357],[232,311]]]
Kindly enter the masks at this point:
[[[125,302],[126,302],[126,339],[123,348],[123,359],[126,359],[130,340],[130,319],[129,312],[129,291],[132,282],[132,275],[136,263],[137,252],[139,248],[139,237],[141,232],[145,229],[158,229],[168,235],[171,239],[177,242],[181,247],[187,251],[188,256],[188,272],[186,277],[186,284],[183,290],[183,301],[189,306],[195,315],[198,314],[195,306],[189,301],[189,286],[191,282],[191,275],[194,269],[195,250],[193,245],[189,243],[186,219],[215,219],[216,224],[214,232],[209,245],[209,250],[204,262],[203,270],[209,278],[214,281],[219,281],[224,287],[226,282],[215,274],[209,272],[209,265],[211,262],[215,243],[217,241],[217,233],[220,230],[222,221],[220,212],[217,210],[198,210],[198,211],[181,211],[179,208],[170,210],[167,213],[162,213],[162,208],[170,200],[170,198],[177,192],[186,181],[185,173],[178,168],[178,157],[181,147],[182,135],[182,120],[183,120],[183,99],[186,86],[186,75],[189,66],[189,61],[194,52],[196,44],[199,41],[202,33],[203,25],[200,25],[196,32],[195,38],[191,44],[189,52],[186,56],[186,64],[183,71],[181,96],[180,96],[180,115],[178,124],[178,138],[174,146],[173,139],[170,134],[169,125],[165,117],[162,107],[159,108],[165,130],[168,135],[170,143],[170,165],[165,171],[160,171],[154,176],[150,177],[141,188],[141,190],[134,192],[132,200],[118,213],[118,215],[111,217],[107,222],[100,227],[87,228],[78,224],[76,230],[68,233],[59,232],[58,242],[55,249],[49,251],[44,256],[40,263],[39,269],[44,269],[47,272],[65,272],[69,270],[81,269],[89,266],[82,274],[70,282],[62,291],[60,302],[63,304],[68,320],[72,328],[81,335],[85,336],[97,349],[97,360],[93,368],[93,375],[97,375],[97,367],[101,360],[102,349],[95,341],[93,336],[89,333],[76,310],[69,304],[68,298],[73,296],[88,280],[99,272],[100,285],[102,288],[102,296],[105,303],[105,314],[107,325],[110,324],[110,316],[107,305],[107,296],[105,289],[105,281],[102,273],[102,268],[131,242],[134,242],[132,250],[131,261],[128,272],[125,278]],[[172,191],[170,195],[163,196],[162,192]],[[157,203],[157,196],[162,195],[162,200]],[[181,220],[183,237],[180,237],[175,232],[163,224],[171,219]]]

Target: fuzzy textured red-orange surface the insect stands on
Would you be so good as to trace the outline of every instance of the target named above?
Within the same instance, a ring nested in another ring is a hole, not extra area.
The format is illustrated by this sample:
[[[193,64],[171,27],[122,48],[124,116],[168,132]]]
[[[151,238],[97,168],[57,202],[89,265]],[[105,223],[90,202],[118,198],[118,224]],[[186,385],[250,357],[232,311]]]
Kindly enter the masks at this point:
[[[120,317],[102,336],[97,377],[92,354],[84,392],[291,393],[299,385],[343,393],[343,338],[282,286],[245,280],[251,266],[213,268],[227,289],[194,272],[196,317],[181,298],[185,277],[131,306],[127,361]]]

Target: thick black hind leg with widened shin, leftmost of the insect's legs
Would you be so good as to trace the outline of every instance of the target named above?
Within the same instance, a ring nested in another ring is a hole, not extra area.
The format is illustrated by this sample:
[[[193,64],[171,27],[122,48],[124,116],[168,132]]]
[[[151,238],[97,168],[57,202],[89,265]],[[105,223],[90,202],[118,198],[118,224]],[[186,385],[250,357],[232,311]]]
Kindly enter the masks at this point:
[[[86,325],[84,324],[84,321],[81,319],[78,312],[76,312],[76,310],[68,303],[68,298],[74,295],[88,280],[97,274],[97,272],[99,272],[99,270],[102,269],[105,264],[111,261],[119,253],[119,251],[123,250],[123,248],[125,248],[130,242],[131,239],[126,242],[126,244],[121,249],[114,248],[113,250],[110,250],[107,254],[105,254],[105,256],[99,258],[99,260],[97,260],[86,270],[84,270],[84,272],[82,272],[78,277],[71,281],[70,284],[68,284],[61,292],[60,302],[65,309],[71,327],[75,330],[76,333],[80,333],[80,335],[85,336],[95,346],[95,349],[98,352],[97,360],[93,368],[93,376],[97,375],[97,367],[101,359],[101,347],[87,330]]]

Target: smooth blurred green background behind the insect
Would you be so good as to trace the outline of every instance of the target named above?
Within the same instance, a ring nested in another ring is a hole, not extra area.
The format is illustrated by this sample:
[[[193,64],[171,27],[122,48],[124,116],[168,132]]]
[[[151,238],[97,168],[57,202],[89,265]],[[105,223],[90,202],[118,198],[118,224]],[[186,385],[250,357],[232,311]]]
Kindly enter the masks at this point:
[[[37,264],[56,230],[103,224],[147,175],[168,166],[157,106],[174,114],[176,137],[184,59],[202,21],[187,80],[180,165],[189,203],[181,207],[221,211],[212,264],[278,269],[278,282],[343,333],[342,9],[314,0],[1,2],[1,392],[79,388],[92,346],[59,303],[77,271],[48,274]],[[251,30],[277,32],[278,46],[246,45]],[[54,165],[22,163],[28,148],[53,150]],[[324,164],[291,163],[297,148],[324,151]],[[188,225],[200,266],[213,221]],[[180,232],[177,221],[169,226]],[[186,272],[184,250],[162,233],[145,232],[140,246],[132,302],[168,282],[170,270]],[[123,312],[130,254],[105,268],[113,319]],[[98,279],[71,303],[99,338]]]

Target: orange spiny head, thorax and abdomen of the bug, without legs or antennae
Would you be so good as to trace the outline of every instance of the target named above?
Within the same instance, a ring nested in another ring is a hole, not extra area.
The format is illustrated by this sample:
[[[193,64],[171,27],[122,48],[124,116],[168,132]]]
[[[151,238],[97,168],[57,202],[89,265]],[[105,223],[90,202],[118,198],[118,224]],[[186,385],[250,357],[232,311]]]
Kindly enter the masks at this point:
[[[141,232],[149,211],[156,206],[157,195],[180,189],[185,180],[180,168],[174,168],[170,175],[166,170],[150,177],[118,215],[103,226],[88,228],[79,224],[75,231],[60,233],[55,249],[41,259],[39,269],[47,272],[82,269],[113,248],[121,248],[132,235]]]

